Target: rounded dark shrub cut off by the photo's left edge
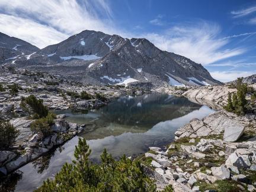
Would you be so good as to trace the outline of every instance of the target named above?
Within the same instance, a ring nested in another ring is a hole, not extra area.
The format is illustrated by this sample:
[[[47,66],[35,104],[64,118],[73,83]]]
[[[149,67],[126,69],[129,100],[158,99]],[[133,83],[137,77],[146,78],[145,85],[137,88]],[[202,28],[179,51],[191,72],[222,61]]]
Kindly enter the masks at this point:
[[[0,121],[0,149],[8,148],[18,136],[19,131],[8,121]]]

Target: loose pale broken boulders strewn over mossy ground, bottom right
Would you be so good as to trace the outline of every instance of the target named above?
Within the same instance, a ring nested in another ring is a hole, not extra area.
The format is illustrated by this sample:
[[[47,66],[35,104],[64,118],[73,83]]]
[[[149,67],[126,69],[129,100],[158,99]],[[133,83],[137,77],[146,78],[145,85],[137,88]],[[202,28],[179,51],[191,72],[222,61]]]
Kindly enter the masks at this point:
[[[241,174],[241,171],[255,171],[256,141],[233,143],[220,139],[200,139],[199,142],[194,142],[191,140],[184,145],[173,143],[166,152],[160,148],[149,148],[152,153],[145,153],[145,158],[153,159],[151,166],[155,167],[155,171],[143,165],[144,169],[149,177],[156,180],[158,190],[172,185],[174,191],[200,191],[196,185],[199,181],[214,184],[218,180],[226,180],[227,184],[234,180],[244,187],[254,189],[255,183],[251,185],[254,181],[249,179],[249,175]],[[196,153],[201,155],[195,155]],[[169,161],[169,164],[161,165],[160,159]],[[197,159],[200,162],[196,162]],[[252,178],[254,172],[250,174]]]

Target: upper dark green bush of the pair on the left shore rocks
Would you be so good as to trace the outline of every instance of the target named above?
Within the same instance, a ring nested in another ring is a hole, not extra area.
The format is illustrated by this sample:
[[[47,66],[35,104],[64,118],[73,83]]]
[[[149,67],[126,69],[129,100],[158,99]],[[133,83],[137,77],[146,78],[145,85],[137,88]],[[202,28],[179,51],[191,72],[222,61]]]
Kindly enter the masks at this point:
[[[46,105],[43,104],[42,99],[37,99],[35,95],[21,98],[21,107],[30,112],[33,111],[33,119],[40,119],[46,117],[49,113]]]

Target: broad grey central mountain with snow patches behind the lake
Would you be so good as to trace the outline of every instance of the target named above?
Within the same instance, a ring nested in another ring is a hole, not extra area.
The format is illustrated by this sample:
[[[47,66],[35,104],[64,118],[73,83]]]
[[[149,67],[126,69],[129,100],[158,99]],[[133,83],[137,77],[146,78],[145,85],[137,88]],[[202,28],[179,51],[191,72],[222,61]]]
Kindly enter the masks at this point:
[[[162,51],[146,39],[124,39],[98,31],[82,31],[15,63],[92,84],[220,84],[200,64]]]

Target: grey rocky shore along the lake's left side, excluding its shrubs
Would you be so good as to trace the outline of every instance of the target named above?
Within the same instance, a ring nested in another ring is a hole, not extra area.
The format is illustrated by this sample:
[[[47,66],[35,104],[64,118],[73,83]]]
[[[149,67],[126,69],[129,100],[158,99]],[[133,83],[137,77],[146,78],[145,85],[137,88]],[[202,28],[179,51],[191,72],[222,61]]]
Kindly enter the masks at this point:
[[[0,84],[6,91],[0,92],[0,120],[9,121],[19,131],[15,143],[9,149],[0,151],[0,175],[24,166],[39,158],[50,149],[63,145],[85,129],[86,125],[69,123],[65,115],[58,115],[51,126],[52,134],[44,139],[30,130],[33,123],[27,111],[21,107],[23,97],[33,94],[43,100],[50,110],[66,110],[68,108],[89,109],[106,105],[108,101],[121,95],[140,95],[143,91],[123,86],[92,86],[63,80],[63,77],[49,73],[39,73],[22,69],[0,68]],[[66,78],[65,78],[66,79]],[[18,91],[13,94],[9,85],[17,85]],[[76,95],[86,91],[89,95],[104,95],[107,100],[97,98],[82,99]],[[75,94],[73,95],[69,93]]]

